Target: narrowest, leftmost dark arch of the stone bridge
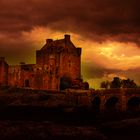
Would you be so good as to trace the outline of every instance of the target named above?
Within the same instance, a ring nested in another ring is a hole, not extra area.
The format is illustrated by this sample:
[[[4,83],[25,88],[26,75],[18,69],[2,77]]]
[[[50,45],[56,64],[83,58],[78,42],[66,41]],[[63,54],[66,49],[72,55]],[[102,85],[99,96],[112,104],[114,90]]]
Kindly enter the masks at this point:
[[[96,96],[95,98],[93,98],[93,100],[92,100],[93,112],[95,112],[95,113],[100,112],[100,105],[101,105],[100,97]]]

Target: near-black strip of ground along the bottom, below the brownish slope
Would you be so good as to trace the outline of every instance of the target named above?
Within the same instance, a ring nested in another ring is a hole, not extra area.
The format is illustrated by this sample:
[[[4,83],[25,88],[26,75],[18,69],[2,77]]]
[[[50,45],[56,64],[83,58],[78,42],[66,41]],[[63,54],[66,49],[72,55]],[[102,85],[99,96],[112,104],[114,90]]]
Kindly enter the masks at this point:
[[[84,110],[85,111],[85,110]],[[0,140],[139,140],[140,118],[119,112],[66,113],[60,108],[7,107],[0,114]],[[138,116],[138,114],[137,114]]]

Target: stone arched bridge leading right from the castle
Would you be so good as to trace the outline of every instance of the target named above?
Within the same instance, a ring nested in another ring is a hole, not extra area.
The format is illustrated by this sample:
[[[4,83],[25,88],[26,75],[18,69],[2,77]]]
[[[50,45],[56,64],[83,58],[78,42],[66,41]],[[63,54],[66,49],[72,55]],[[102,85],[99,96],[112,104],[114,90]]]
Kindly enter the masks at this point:
[[[88,106],[94,111],[140,111],[140,88],[70,90],[66,95],[69,102],[79,106]]]

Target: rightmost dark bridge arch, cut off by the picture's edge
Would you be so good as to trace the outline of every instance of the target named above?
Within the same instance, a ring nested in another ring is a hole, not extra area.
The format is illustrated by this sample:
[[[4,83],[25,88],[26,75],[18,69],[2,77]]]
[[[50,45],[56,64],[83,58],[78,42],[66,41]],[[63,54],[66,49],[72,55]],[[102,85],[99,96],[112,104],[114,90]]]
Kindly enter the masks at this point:
[[[140,97],[133,96],[127,102],[127,111],[140,111]]]

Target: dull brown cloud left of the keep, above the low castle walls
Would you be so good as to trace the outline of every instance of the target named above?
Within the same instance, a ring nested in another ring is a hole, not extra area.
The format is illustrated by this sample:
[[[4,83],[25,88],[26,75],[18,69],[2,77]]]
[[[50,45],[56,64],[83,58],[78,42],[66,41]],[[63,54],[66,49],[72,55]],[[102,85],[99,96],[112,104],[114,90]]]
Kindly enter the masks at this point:
[[[0,56],[6,57],[8,64],[19,64],[19,62],[33,63],[35,61],[35,48],[28,41],[21,38],[0,39]]]

